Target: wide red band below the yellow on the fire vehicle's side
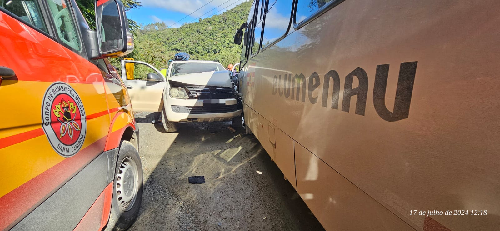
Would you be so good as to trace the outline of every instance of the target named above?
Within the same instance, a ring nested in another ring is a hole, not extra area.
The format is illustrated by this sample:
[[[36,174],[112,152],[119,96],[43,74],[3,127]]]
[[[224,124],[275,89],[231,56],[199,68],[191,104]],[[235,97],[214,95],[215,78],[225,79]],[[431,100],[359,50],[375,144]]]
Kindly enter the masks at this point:
[[[100,138],[81,149],[76,155],[62,160],[0,197],[0,230],[9,229],[19,222],[102,153],[106,138],[107,136]]]

